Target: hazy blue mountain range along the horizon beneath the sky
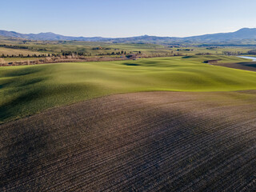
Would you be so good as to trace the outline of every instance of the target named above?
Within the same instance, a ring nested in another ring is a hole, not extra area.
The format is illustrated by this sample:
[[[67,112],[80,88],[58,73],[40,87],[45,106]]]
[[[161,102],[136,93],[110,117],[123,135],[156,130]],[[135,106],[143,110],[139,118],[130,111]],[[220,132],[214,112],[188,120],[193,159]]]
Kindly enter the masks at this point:
[[[14,31],[0,30],[0,36],[8,38],[22,38],[28,40],[38,40],[38,41],[86,41],[86,42],[151,42],[151,43],[174,43],[174,42],[241,42],[247,40],[256,40],[256,28],[242,28],[235,32],[230,33],[219,33],[219,34],[204,34],[199,36],[192,36],[186,38],[176,38],[176,37],[158,37],[158,36],[138,36],[131,38],[102,38],[102,37],[71,37],[64,36],[61,34],[54,33],[40,33],[40,34],[20,34]],[[250,42],[250,41],[249,41]]]

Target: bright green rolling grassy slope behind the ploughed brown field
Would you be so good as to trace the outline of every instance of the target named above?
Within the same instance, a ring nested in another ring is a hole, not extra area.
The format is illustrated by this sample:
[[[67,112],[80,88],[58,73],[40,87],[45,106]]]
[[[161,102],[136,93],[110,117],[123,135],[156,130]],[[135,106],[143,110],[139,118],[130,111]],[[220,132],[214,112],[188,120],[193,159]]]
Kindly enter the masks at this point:
[[[217,56],[1,67],[0,122],[108,94],[256,89],[256,73],[202,63],[212,58]]]

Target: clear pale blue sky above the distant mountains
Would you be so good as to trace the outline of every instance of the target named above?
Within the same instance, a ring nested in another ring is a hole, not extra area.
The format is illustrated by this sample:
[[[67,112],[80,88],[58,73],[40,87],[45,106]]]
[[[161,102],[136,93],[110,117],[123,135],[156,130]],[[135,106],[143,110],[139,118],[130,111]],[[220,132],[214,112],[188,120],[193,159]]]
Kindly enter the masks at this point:
[[[187,37],[256,28],[255,0],[2,0],[0,30]]]

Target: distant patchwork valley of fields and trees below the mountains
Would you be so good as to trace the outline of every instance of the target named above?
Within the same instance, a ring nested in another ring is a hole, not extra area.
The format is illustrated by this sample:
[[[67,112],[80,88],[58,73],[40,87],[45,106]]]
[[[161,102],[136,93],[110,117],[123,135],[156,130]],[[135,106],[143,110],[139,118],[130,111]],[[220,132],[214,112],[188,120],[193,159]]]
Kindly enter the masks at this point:
[[[156,56],[171,56],[171,55],[186,55],[195,54],[215,54],[223,55],[226,51],[231,54],[246,54],[249,50],[254,50],[251,46],[198,46],[196,44],[184,44],[173,48],[170,44],[152,44],[152,43],[113,43],[113,42],[78,42],[78,41],[26,41],[22,39],[1,39],[0,46],[23,46],[26,49],[12,49],[0,47],[0,56],[8,54],[18,56],[23,54],[62,54],[63,52],[82,53],[84,56],[96,55],[112,55],[119,57],[118,52],[126,52],[126,54],[138,54],[140,51],[143,55]],[[95,49],[101,47],[101,49]],[[33,58],[26,58],[33,60]],[[22,61],[18,58],[5,58],[6,62]]]

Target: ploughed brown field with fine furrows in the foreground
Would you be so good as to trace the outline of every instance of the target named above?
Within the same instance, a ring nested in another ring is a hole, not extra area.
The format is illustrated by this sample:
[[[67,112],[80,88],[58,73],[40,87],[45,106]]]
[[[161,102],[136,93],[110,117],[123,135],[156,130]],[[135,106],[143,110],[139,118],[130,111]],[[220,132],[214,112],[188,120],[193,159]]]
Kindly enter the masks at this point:
[[[255,191],[256,91],[117,94],[0,125],[1,191]]]

